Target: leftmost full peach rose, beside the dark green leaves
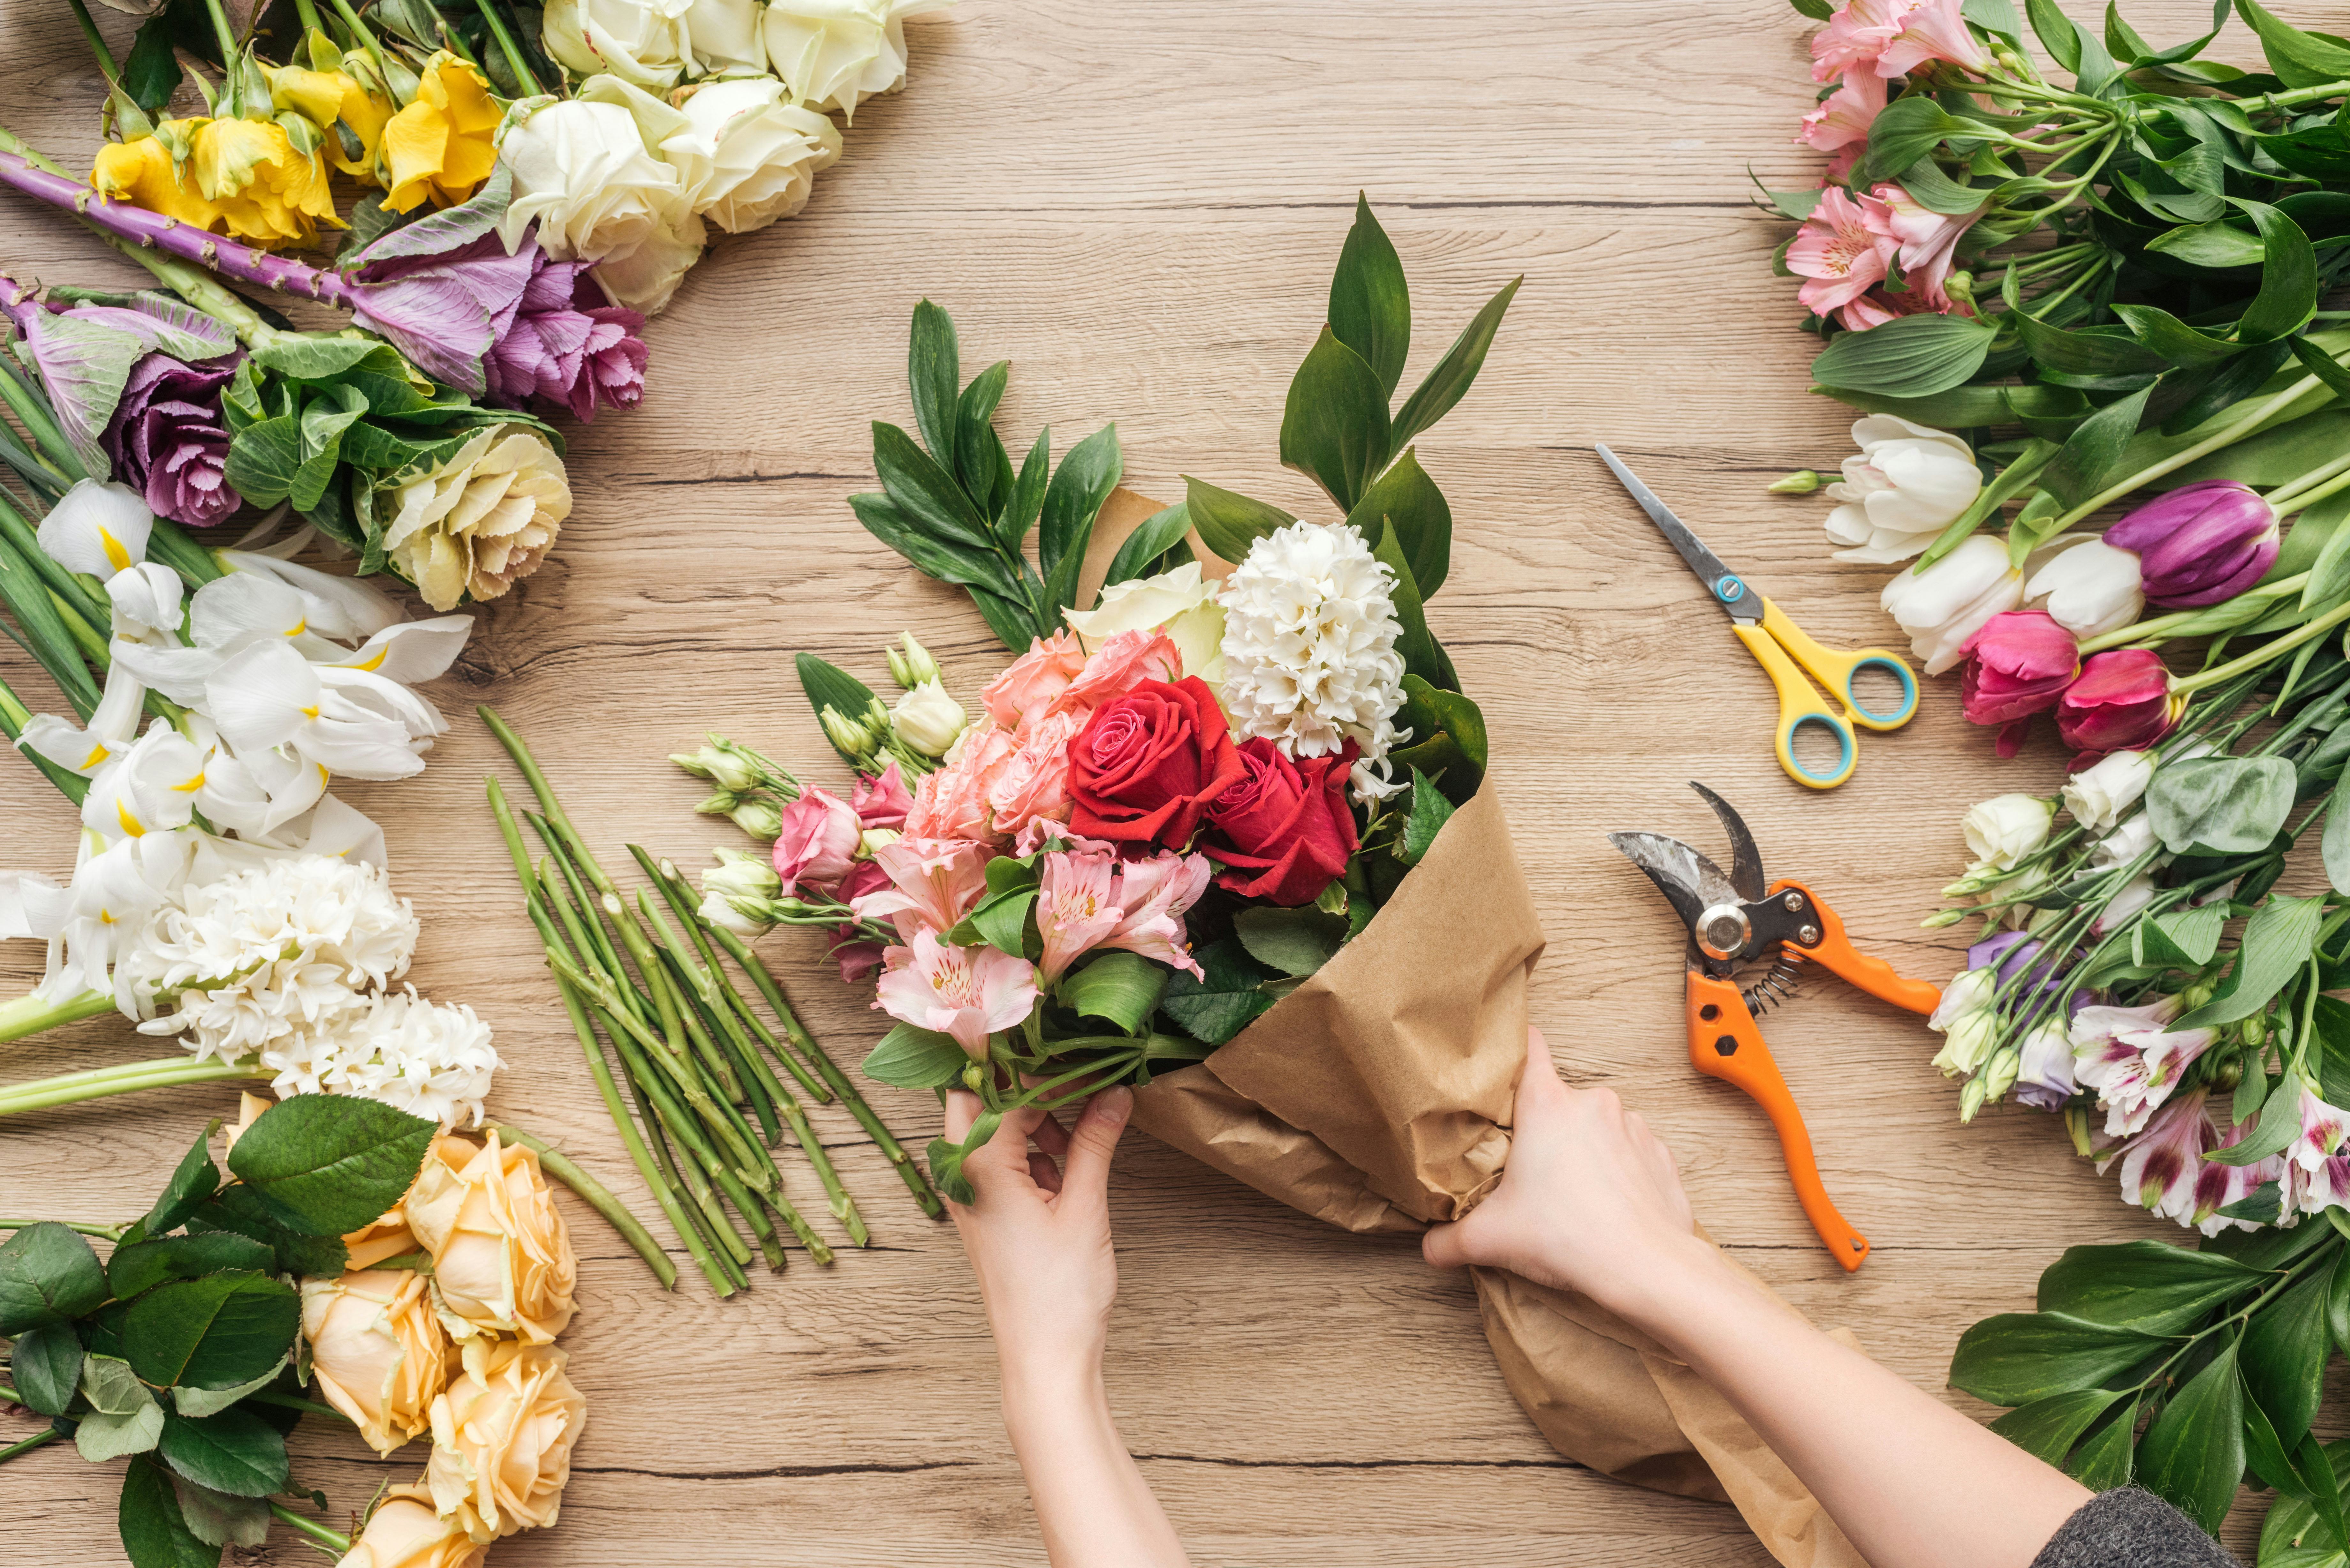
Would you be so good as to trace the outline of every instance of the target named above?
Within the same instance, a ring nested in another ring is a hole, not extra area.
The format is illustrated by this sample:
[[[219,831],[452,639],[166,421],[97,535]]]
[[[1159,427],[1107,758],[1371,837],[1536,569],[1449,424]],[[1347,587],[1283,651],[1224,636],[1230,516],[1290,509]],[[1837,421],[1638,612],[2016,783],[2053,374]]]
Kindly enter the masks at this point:
[[[449,1382],[449,1335],[432,1314],[425,1276],[355,1269],[301,1281],[301,1331],[320,1394],[390,1453],[430,1425]]]

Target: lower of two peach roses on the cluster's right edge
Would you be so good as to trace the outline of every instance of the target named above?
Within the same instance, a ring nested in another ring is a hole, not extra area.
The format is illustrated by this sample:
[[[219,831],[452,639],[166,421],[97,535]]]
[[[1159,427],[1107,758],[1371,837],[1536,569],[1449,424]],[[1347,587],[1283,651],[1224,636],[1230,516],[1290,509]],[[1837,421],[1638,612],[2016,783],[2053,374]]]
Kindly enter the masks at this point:
[[[564,1361],[552,1345],[468,1340],[465,1371],[432,1401],[425,1486],[472,1540],[555,1523],[588,1425]]]

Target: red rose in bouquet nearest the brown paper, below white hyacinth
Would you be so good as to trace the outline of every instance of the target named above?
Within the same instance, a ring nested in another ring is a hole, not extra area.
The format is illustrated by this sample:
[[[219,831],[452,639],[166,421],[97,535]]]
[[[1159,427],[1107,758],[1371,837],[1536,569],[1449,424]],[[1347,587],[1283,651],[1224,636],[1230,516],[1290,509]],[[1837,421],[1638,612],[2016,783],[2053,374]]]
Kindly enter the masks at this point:
[[[1354,856],[1347,773],[1356,745],[1292,762],[1271,741],[1241,745],[1248,776],[1208,806],[1201,851],[1227,870],[1217,886],[1278,905],[1314,903]]]

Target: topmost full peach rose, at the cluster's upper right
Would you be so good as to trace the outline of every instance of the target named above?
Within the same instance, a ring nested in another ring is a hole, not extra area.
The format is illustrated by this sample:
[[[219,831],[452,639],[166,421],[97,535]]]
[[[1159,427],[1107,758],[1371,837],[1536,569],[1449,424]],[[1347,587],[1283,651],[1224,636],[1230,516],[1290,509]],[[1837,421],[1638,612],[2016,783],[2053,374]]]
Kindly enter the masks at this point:
[[[519,1333],[548,1345],[571,1324],[578,1260],[538,1154],[442,1138],[402,1208],[432,1253],[442,1321],[461,1340]]]

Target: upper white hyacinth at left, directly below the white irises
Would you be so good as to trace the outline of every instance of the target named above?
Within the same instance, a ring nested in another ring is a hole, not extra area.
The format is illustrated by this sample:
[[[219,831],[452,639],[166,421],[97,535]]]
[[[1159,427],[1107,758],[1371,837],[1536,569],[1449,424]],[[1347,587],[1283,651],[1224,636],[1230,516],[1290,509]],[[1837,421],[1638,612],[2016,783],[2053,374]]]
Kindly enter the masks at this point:
[[[381,867],[334,856],[287,856],[181,889],[148,914],[118,980],[169,1013],[143,1034],[183,1034],[197,1058],[256,1051],[280,1072],[315,1074],[317,1046],[343,1013],[364,1011],[409,969],[416,912]],[[282,1060],[270,1060],[270,1053]]]

